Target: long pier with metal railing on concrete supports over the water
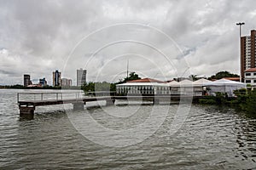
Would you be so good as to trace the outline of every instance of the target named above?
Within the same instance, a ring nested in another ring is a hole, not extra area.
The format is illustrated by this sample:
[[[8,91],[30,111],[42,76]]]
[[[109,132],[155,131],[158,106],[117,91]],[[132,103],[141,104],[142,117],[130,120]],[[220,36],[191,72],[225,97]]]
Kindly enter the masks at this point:
[[[159,104],[160,100],[180,100],[180,99],[195,99],[203,96],[180,96],[180,95],[129,95],[129,96],[85,96],[83,93],[18,93],[17,103],[20,109],[20,116],[33,116],[37,106],[44,105],[61,105],[72,104],[74,111],[83,111],[84,105],[91,101],[105,100],[106,105],[114,105],[116,99],[122,100],[143,100],[151,101],[153,104]]]

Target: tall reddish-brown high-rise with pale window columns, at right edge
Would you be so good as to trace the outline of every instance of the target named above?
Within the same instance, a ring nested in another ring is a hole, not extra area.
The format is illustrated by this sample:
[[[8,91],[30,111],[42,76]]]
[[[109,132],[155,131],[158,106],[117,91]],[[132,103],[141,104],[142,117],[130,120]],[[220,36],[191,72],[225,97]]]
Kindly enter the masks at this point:
[[[256,30],[250,36],[241,37],[241,81],[244,82],[245,71],[256,65]]]

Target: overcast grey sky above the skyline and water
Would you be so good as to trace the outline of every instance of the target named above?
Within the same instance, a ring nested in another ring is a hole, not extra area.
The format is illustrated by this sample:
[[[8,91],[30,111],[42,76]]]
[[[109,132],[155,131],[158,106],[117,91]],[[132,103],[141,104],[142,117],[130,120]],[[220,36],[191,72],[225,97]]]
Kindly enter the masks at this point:
[[[3,0],[0,84],[34,83],[52,71],[76,82],[117,82],[129,71],[160,80],[239,73],[239,27],[256,29],[254,0]]]

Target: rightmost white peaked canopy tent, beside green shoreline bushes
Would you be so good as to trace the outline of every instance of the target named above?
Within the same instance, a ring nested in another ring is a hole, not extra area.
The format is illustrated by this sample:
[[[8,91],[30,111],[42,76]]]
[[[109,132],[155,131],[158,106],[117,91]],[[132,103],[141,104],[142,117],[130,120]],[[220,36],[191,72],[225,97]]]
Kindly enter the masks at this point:
[[[207,82],[210,95],[215,95],[217,92],[226,93],[229,97],[235,96],[233,91],[236,89],[246,88],[247,85],[242,82],[235,82],[226,79],[216,80],[214,82]]]

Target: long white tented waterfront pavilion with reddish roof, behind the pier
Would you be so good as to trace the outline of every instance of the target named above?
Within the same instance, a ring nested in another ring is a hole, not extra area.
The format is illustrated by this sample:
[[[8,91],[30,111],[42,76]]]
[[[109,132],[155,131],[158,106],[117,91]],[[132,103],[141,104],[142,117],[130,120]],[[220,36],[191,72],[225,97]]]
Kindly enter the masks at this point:
[[[256,70],[255,70],[256,72]],[[256,77],[255,77],[256,79]],[[141,94],[141,95],[188,95],[188,96],[202,96],[215,95],[217,92],[227,93],[229,97],[234,96],[233,91],[240,88],[246,88],[246,84],[242,82],[235,82],[226,79],[217,81],[208,81],[201,78],[195,82],[183,80],[181,82],[161,82],[158,80],[144,78],[135,81],[125,82],[116,86],[117,94]]]

